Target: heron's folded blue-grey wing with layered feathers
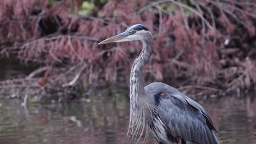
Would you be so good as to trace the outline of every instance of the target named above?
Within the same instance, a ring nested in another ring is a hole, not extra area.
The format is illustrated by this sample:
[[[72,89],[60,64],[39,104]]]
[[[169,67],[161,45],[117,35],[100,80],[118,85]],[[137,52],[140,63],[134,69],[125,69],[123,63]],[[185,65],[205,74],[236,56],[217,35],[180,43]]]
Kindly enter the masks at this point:
[[[218,143],[212,131],[216,129],[201,105],[164,83],[153,84],[145,87],[145,90],[172,136],[181,136],[192,143]]]

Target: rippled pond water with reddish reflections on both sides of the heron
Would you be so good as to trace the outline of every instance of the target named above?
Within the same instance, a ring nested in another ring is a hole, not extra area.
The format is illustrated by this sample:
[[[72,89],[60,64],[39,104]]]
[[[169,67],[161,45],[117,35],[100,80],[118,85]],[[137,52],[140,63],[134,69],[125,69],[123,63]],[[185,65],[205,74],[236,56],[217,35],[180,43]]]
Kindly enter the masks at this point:
[[[91,97],[90,102],[30,104],[0,98],[0,143],[129,143],[125,139],[129,101],[121,95]],[[204,101],[219,130],[220,143],[256,143],[256,100],[247,97]],[[144,143],[156,143],[151,136]]]

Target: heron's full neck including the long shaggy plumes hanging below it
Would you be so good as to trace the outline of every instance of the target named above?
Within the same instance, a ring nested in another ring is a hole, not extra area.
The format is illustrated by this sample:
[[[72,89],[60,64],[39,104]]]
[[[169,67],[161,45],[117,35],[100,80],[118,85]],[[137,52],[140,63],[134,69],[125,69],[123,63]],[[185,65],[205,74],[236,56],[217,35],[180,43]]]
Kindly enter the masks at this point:
[[[153,52],[153,38],[148,34],[142,40],[143,49],[135,59],[130,76],[130,123],[128,134],[141,139],[143,131],[152,119],[152,105],[143,85],[142,72]]]

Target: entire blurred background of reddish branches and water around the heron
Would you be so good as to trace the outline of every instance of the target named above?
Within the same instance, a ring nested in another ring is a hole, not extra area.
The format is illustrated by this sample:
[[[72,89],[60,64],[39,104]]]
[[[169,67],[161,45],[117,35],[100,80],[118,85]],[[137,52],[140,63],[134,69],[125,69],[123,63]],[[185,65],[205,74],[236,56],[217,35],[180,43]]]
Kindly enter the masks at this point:
[[[254,0],[0,1],[0,143],[129,143],[142,44],[97,43],[137,23],[154,38],[144,83],[199,102],[220,143],[256,143]]]

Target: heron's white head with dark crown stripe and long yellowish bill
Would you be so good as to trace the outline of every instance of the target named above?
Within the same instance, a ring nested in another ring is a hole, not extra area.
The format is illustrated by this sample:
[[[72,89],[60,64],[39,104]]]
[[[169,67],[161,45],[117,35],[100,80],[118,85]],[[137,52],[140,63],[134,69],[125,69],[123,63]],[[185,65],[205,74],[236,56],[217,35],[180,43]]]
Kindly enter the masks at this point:
[[[133,25],[125,30],[125,32],[115,35],[114,37],[105,39],[98,43],[98,45],[108,44],[112,42],[123,42],[123,41],[132,41],[132,40],[143,40],[147,36],[151,36],[151,33],[143,25]]]

